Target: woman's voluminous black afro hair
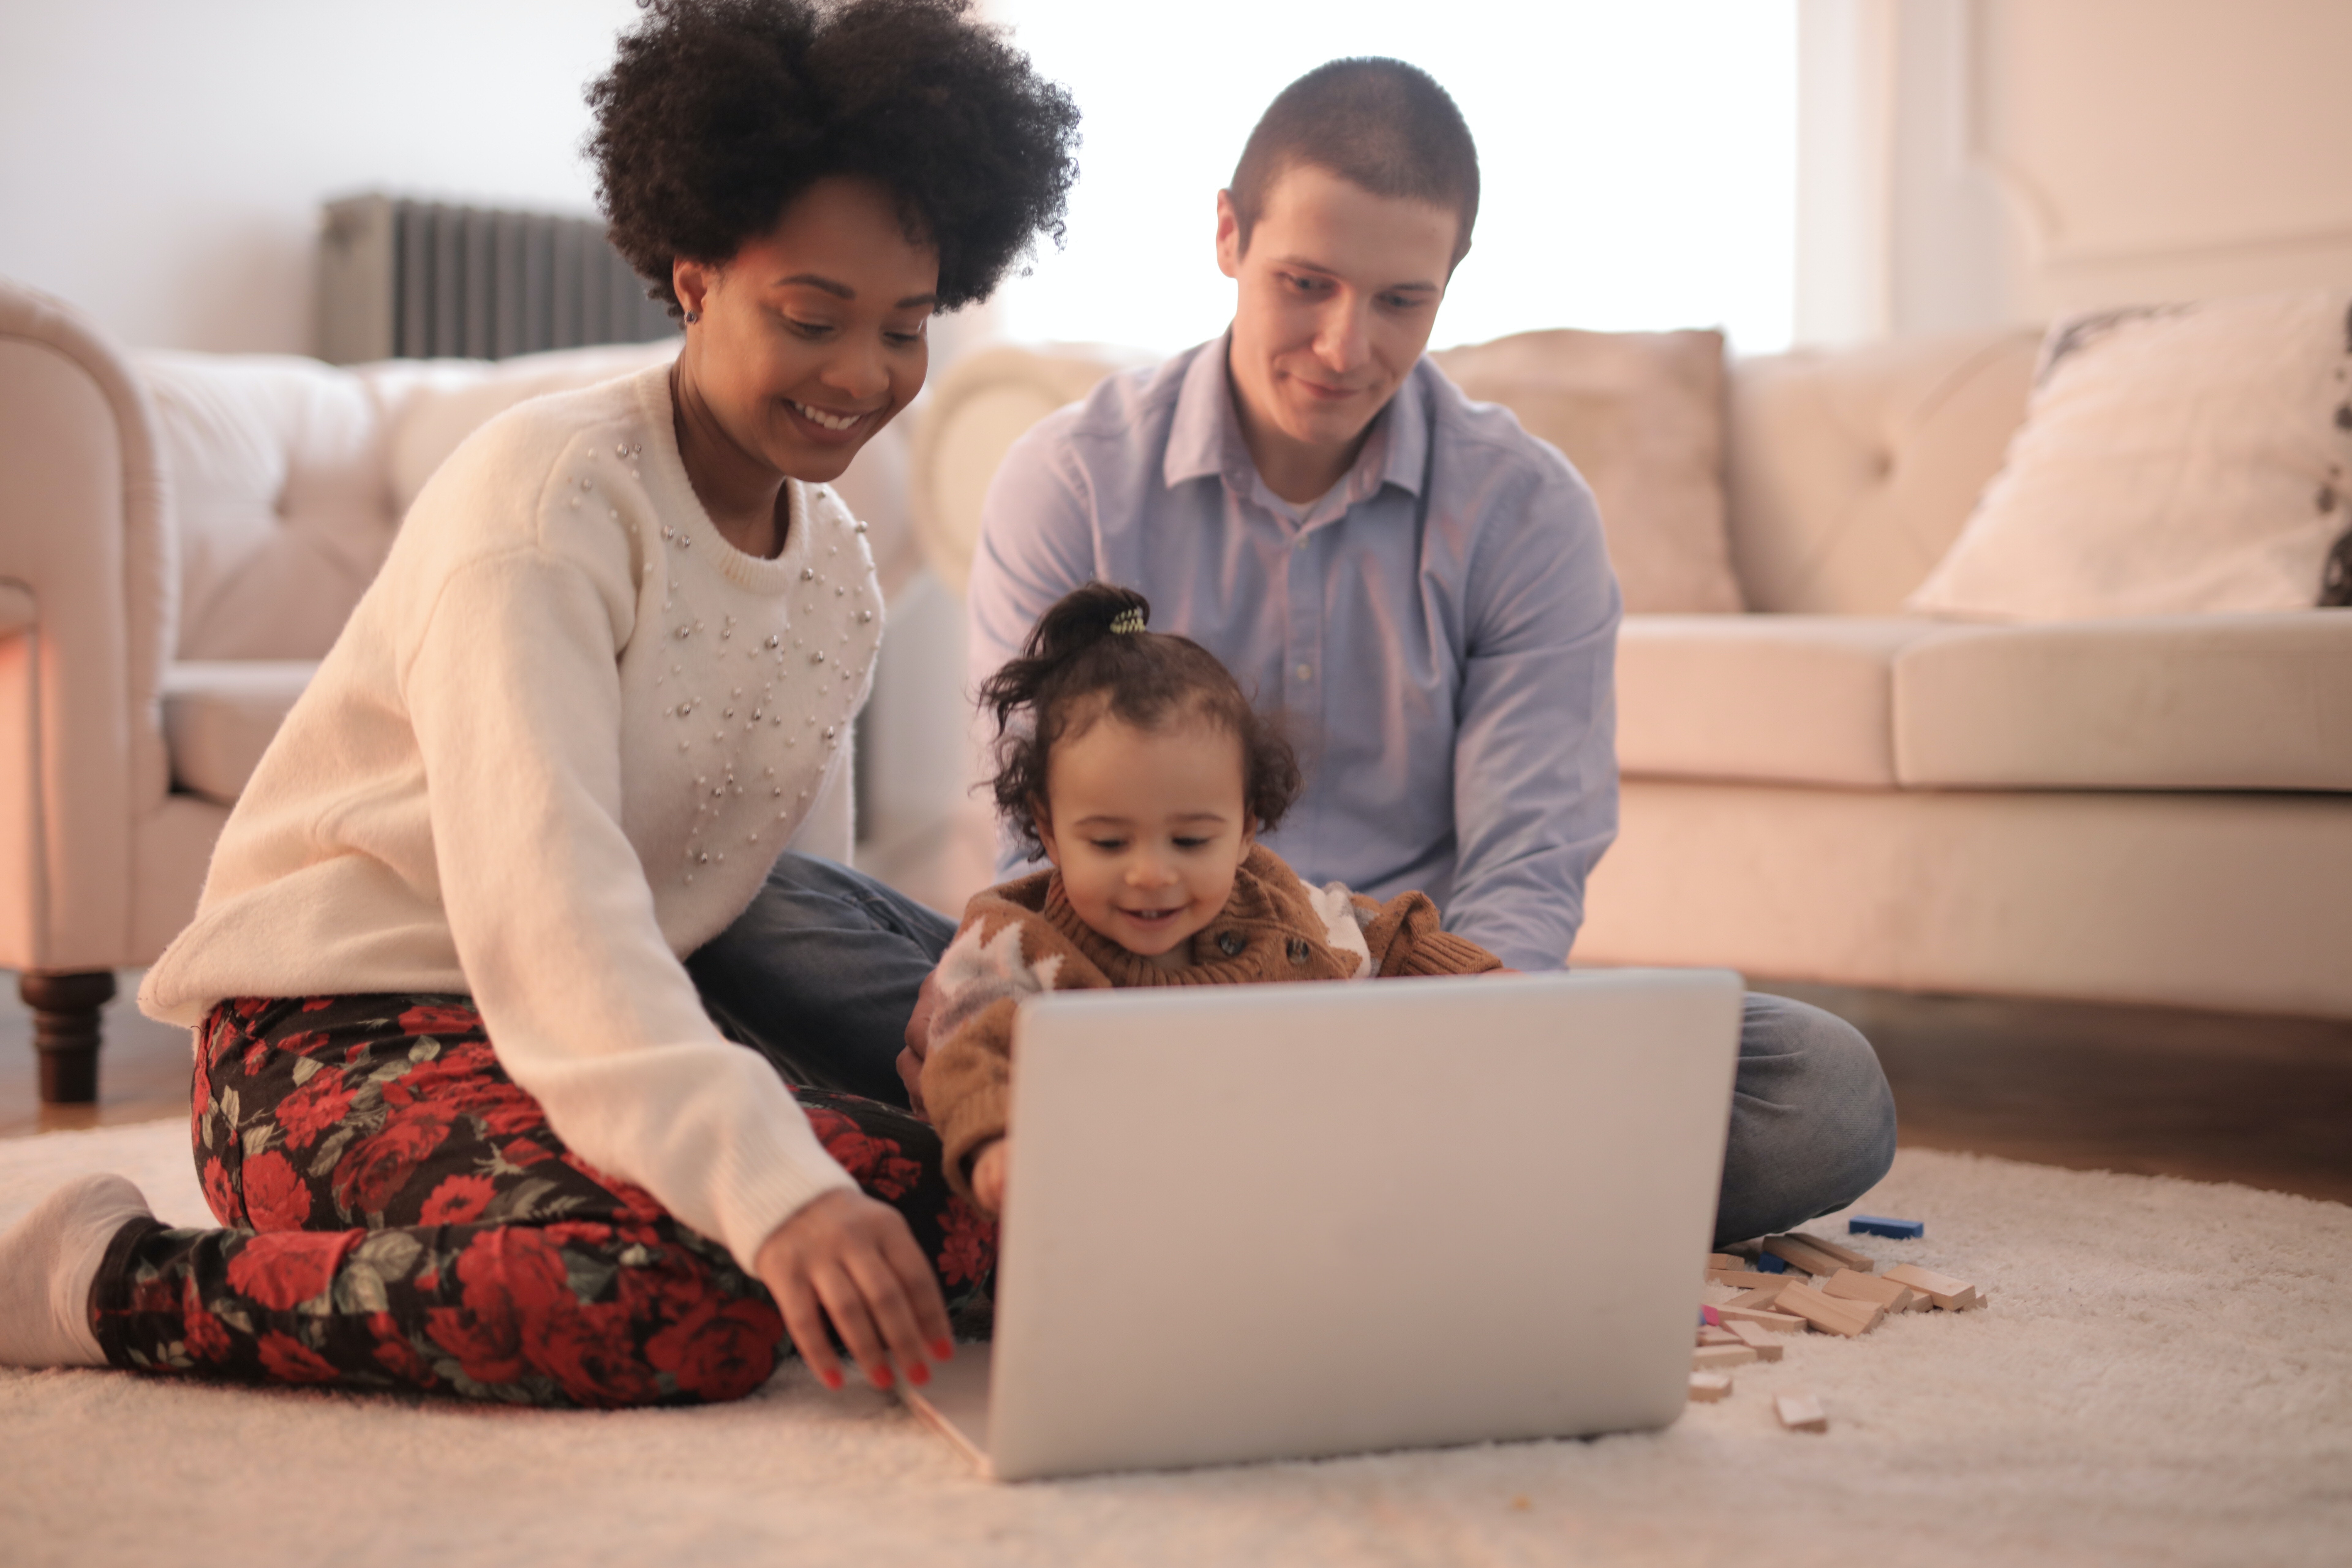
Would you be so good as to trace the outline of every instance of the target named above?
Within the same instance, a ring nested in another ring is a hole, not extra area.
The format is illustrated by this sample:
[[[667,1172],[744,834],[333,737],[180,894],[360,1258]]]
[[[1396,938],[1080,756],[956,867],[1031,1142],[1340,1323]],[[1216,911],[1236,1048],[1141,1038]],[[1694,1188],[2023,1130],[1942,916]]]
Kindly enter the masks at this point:
[[[1063,237],[1077,106],[971,0],[637,0],[588,85],[614,247],[677,315],[670,263],[731,259],[811,183],[896,193],[938,249],[938,308]]]

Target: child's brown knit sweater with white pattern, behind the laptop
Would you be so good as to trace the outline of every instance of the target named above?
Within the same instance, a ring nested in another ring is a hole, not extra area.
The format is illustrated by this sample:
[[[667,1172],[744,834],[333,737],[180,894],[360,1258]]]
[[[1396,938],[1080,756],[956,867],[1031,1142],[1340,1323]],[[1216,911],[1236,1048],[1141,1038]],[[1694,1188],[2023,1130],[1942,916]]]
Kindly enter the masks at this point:
[[[964,905],[964,924],[931,976],[931,1039],[922,1098],[946,1143],[948,1180],[971,1197],[967,1166],[1004,1135],[1014,1009],[1049,990],[1110,985],[1258,985],[1465,976],[1503,961],[1437,929],[1437,905],[1399,893],[1385,905],[1341,884],[1310,889],[1265,846],[1232,877],[1232,898],[1192,933],[1190,964],[1160,969],[1077,917],[1061,872],[993,886]]]

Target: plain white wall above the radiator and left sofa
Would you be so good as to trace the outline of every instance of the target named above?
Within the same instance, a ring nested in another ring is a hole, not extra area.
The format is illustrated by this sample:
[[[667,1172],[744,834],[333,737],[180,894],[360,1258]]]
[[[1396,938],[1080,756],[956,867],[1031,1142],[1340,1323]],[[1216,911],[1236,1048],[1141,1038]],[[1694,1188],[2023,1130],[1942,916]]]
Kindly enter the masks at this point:
[[[593,212],[633,0],[71,0],[0,40],[0,275],[139,348],[313,348],[318,205]]]

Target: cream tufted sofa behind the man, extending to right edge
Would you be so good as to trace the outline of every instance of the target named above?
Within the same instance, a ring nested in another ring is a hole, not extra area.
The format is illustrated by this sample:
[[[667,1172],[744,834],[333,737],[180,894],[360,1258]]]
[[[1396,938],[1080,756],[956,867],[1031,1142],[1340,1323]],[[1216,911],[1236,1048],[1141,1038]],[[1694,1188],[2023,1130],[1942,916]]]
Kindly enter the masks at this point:
[[[1999,468],[2034,346],[1729,367],[1750,614],[1625,621],[1623,830],[1578,961],[2352,1018],[2352,611],[1900,614]],[[943,378],[913,473],[943,578],[1011,440],[1115,364],[1007,348]]]

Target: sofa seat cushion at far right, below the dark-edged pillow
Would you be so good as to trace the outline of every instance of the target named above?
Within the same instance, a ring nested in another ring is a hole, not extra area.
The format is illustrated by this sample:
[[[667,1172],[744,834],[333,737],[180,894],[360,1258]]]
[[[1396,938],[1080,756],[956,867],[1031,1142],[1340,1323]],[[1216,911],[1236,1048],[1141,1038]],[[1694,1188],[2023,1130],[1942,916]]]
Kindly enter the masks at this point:
[[[1912,788],[2352,790],[2352,609],[1947,630],[1893,710]]]

